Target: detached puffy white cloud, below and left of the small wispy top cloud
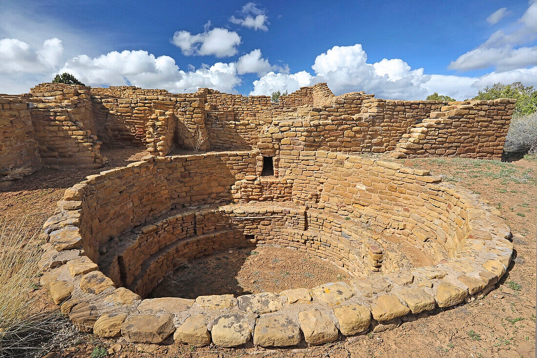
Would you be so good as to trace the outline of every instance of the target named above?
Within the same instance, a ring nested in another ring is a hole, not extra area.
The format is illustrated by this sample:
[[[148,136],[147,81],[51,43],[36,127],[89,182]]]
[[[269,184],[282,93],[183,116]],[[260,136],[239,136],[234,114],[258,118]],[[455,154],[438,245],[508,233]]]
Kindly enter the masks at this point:
[[[227,28],[216,27],[202,33],[191,34],[188,31],[176,31],[172,42],[179,47],[184,55],[215,55],[217,58],[233,56],[241,37]]]

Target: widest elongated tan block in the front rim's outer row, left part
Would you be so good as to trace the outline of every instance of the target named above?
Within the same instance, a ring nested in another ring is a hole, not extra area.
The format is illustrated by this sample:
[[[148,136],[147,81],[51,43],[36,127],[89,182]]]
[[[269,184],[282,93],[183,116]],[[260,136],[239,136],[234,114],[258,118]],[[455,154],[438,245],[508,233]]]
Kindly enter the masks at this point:
[[[128,317],[121,324],[121,335],[129,342],[162,343],[175,331],[169,314],[155,316],[139,314]]]

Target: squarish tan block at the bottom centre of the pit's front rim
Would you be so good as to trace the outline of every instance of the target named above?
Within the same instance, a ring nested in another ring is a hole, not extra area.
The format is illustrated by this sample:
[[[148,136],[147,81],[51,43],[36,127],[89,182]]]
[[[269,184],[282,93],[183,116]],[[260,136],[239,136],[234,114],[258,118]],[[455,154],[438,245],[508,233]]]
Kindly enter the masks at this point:
[[[289,316],[261,316],[253,331],[253,344],[262,347],[287,347],[300,343],[300,328]]]

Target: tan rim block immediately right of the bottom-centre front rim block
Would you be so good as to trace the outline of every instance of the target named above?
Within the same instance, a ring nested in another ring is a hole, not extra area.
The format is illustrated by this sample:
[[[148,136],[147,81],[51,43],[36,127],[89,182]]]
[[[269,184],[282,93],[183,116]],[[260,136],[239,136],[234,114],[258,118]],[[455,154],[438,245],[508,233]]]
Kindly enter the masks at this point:
[[[299,312],[300,329],[311,345],[322,345],[337,340],[339,332],[330,317],[319,310]]]

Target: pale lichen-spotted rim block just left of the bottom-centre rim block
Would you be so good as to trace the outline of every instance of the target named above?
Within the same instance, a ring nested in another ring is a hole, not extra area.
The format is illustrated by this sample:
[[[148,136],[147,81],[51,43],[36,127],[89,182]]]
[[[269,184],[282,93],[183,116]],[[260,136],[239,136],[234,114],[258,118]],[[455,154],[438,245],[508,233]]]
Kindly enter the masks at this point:
[[[236,347],[248,342],[252,329],[248,320],[240,314],[225,314],[214,322],[211,336],[215,345],[220,347]]]

